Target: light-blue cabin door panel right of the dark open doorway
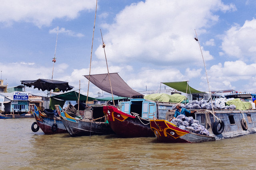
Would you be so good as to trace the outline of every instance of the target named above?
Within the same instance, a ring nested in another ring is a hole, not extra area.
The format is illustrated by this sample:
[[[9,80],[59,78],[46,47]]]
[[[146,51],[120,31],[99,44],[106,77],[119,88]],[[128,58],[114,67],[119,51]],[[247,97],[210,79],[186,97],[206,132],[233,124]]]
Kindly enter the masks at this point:
[[[156,117],[156,103],[144,101],[142,102],[142,118],[153,119]]]

